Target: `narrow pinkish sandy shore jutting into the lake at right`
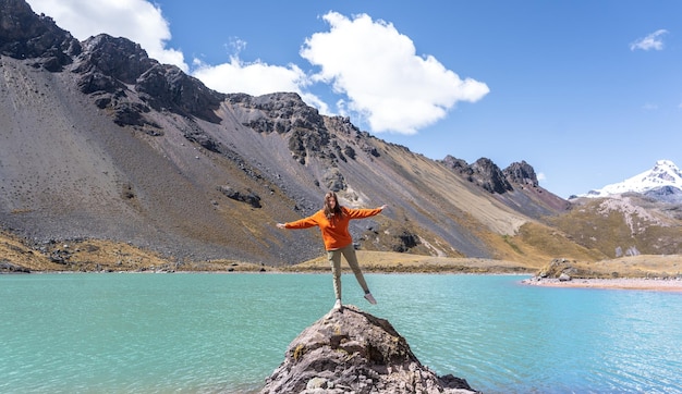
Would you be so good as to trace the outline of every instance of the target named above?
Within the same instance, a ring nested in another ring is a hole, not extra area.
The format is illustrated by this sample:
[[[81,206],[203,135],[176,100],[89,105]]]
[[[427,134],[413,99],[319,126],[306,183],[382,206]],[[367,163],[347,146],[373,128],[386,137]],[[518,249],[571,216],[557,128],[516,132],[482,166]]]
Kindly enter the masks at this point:
[[[548,287],[592,287],[592,288],[617,288],[617,290],[643,290],[656,292],[682,292],[680,279],[572,279],[559,281],[558,279],[532,278],[522,281],[523,284]]]

